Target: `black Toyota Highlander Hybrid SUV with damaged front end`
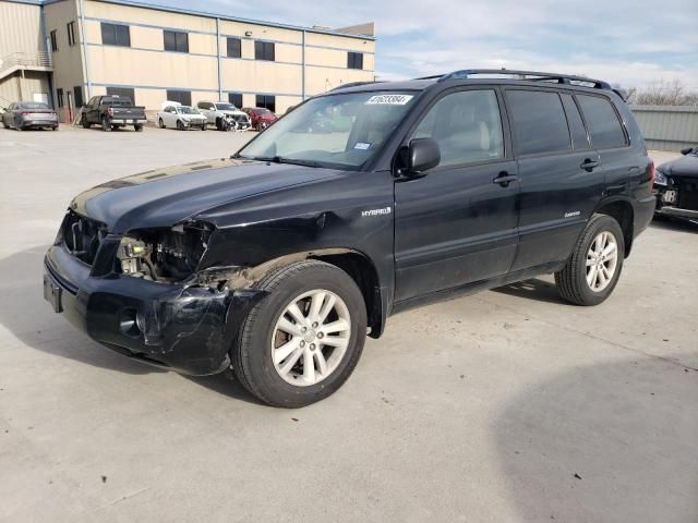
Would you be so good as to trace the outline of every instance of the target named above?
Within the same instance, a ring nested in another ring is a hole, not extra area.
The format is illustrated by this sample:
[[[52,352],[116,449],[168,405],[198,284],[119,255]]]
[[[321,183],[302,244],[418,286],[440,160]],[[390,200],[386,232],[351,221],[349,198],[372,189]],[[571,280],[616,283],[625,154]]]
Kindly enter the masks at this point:
[[[653,174],[604,82],[468,70],[348,85],[231,158],[76,196],[45,296],[125,355],[231,368],[262,401],[302,406],[405,308],[544,273],[575,304],[604,301],[652,218]]]

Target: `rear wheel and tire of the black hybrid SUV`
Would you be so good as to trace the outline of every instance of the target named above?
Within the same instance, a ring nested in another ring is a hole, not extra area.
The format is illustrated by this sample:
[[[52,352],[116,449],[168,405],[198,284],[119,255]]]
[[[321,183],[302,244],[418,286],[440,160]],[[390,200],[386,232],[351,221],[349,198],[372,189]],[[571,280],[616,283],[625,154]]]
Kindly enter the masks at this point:
[[[576,305],[600,304],[615,289],[624,258],[618,222],[606,215],[593,215],[567,264],[555,272],[561,296]]]

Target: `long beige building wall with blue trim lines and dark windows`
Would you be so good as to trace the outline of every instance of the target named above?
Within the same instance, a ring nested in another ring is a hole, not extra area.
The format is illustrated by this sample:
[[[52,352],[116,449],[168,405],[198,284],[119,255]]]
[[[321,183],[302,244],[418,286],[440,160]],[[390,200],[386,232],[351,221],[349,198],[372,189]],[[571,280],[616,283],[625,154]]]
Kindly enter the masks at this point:
[[[309,97],[342,83],[374,77],[372,36],[314,33],[312,28],[279,27],[272,23],[224,19],[217,22],[215,15],[106,1],[83,0],[83,3],[92,95],[106,92],[107,86],[131,87],[135,104],[149,111],[159,109],[167,89],[181,89],[191,92],[193,105],[218,100],[219,92],[222,101],[228,101],[230,93],[241,94],[243,106],[252,107],[256,106],[257,95],[274,96],[276,112],[284,113],[302,101],[303,78]],[[130,47],[105,45],[103,22],[128,25]],[[166,51],[164,31],[186,33],[189,52]],[[240,57],[227,57],[228,37],[241,40]],[[273,61],[255,58],[256,40],[274,44]],[[349,52],[363,53],[362,70],[348,68]]]

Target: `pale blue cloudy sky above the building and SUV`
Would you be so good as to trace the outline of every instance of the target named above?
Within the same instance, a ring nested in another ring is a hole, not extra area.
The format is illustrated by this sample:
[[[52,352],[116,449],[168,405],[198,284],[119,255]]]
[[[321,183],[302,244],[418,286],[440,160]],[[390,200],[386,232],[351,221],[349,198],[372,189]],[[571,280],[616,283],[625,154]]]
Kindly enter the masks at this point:
[[[698,0],[145,1],[302,26],[375,22],[378,80],[506,68],[698,90]]]

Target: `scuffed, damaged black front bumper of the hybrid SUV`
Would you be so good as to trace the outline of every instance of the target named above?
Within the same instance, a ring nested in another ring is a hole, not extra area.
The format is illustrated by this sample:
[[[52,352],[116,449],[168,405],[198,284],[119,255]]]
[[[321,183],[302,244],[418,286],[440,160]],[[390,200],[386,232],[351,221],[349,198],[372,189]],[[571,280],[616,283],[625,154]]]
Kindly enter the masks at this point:
[[[95,277],[63,244],[45,257],[44,296],[77,329],[122,354],[183,374],[216,374],[230,365],[240,326],[263,296],[160,283],[109,273]]]

